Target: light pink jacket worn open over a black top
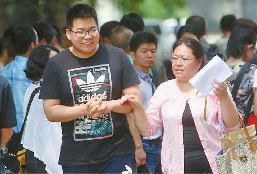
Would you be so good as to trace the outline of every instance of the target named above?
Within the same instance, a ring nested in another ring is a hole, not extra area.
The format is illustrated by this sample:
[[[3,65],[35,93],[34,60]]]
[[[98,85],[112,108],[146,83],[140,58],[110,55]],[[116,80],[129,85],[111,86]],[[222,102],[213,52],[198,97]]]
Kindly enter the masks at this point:
[[[230,98],[232,100],[231,95]],[[182,115],[187,101],[212,172],[218,173],[214,155],[221,149],[219,124],[221,108],[220,101],[213,92],[207,96],[207,121],[205,121],[205,97],[201,93],[190,98],[179,90],[176,79],[162,83],[149,101],[146,115],[150,126],[142,135],[153,135],[163,124],[162,170],[164,173],[184,173]],[[234,102],[233,104],[235,105]],[[240,127],[241,124],[226,128],[226,131],[230,132]]]

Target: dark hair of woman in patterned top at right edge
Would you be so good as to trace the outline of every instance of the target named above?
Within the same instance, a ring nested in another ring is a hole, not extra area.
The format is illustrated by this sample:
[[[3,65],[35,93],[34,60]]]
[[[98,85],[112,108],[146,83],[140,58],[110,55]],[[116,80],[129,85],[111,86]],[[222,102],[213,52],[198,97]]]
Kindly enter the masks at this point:
[[[228,39],[227,56],[239,58],[246,54],[245,46],[256,44],[256,33],[249,28],[235,27]]]

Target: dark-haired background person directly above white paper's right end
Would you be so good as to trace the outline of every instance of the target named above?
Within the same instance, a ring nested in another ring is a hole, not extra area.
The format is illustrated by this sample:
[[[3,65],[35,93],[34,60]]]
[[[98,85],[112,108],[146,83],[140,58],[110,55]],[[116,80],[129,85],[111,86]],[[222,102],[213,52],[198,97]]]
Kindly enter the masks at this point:
[[[228,38],[230,36],[231,28],[233,27],[235,20],[236,20],[236,18],[234,15],[228,14],[228,15],[222,16],[221,21],[220,21],[220,30],[223,35],[216,42],[216,45],[218,45],[218,47],[221,50],[222,55],[226,59],[227,59],[226,50],[227,50]]]

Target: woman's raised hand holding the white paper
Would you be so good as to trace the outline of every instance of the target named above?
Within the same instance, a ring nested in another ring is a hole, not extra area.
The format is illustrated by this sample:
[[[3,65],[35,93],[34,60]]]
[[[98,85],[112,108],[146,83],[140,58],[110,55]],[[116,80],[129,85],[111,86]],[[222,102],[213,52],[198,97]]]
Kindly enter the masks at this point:
[[[211,83],[214,88],[213,93],[219,97],[220,100],[229,97],[227,92],[227,84],[225,82],[221,82],[218,79],[213,79],[215,83]]]

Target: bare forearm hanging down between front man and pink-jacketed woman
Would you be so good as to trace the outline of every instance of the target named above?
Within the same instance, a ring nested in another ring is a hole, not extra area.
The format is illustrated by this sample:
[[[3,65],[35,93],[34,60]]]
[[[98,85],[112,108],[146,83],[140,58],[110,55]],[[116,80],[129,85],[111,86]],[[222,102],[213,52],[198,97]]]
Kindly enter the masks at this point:
[[[135,144],[135,162],[136,166],[141,166],[146,163],[146,153],[143,148],[142,140],[139,134],[139,130],[137,130],[135,126],[135,120],[133,113],[127,114],[127,120],[129,124],[130,133],[133,137]]]

